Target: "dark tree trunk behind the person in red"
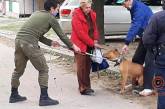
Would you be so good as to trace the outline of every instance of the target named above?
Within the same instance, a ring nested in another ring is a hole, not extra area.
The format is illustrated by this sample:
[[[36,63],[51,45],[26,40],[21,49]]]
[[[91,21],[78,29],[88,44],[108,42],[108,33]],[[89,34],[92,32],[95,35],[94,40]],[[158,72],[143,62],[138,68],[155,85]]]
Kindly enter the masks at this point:
[[[100,34],[100,43],[105,42],[104,37],[104,0],[93,0],[93,10],[97,14],[97,27]]]

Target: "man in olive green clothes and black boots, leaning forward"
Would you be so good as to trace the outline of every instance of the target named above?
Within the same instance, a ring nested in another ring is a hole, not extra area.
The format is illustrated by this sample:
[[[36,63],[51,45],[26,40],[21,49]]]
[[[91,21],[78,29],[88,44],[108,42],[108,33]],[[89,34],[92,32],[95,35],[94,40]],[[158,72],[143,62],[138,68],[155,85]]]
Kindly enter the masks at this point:
[[[22,26],[15,39],[15,69],[11,79],[11,96],[10,103],[26,100],[18,93],[20,85],[20,77],[23,75],[27,65],[27,61],[39,71],[39,85],[41,88],[41,95],[39,100],[40,106],[56,105],[59,102],[53,100],[48,96],[48,66],[44,54],[40,50],[38,42],[42,42],[48,46],[56,47],[58,42],[52,41],[44,37],[50,28],[52,28],[59,38],[70,48],[79,51],[75,45],[72,46],[67,36],[63,33],[55,15],[58,13],[59,5],[56,0],[47,0],[44,3],[45,10],[35,12],[29,20]]]

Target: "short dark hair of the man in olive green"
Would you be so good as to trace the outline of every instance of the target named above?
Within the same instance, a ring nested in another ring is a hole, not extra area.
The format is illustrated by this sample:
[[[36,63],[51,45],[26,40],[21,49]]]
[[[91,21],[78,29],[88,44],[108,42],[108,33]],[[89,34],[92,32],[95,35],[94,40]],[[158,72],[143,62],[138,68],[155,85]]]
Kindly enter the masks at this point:
[[[44,9],[50,11],[51,7],[56,8],[59,2],[57,0],[46,0],[44,3]]]

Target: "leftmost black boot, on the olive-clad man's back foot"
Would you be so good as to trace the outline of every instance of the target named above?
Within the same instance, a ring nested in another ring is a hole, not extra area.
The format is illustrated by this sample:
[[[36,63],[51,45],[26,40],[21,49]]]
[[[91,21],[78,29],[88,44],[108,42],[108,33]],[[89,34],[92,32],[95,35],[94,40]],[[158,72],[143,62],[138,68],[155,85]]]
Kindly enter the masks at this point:
[[[26,97],[20,96],[18,94],[18,88],[11,89],[9,103],[16,103],[16,102],[25,101],[25,100],[27,100]]]

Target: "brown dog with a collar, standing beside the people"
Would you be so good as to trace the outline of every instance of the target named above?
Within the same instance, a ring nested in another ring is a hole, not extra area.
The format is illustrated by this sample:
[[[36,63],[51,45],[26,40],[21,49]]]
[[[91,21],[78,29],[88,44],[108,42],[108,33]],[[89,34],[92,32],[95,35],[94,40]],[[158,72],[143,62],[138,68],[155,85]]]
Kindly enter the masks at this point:
[[[122,76],[122,86],[120,93],[124,93],[125,86],[129,77],[132,79],[132,83],[134,83],[134,81],[136,80],[140,86],[143,85],[142,65],[133,63],[131,60],[127,60],[121,57],[117,49],[105,53],[104,57],[119,64],[119,70]]]

